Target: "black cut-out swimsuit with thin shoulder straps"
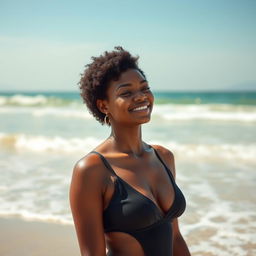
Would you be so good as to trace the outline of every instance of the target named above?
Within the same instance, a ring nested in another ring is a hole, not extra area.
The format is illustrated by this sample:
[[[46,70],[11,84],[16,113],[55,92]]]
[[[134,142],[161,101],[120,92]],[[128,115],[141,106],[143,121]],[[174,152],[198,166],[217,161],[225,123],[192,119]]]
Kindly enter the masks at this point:
[[[186,201],[171,171],[154,149],[156,156],[164,165],[173,185],[175,197],[166,214],[148,197],[121,179],[106,158],[102,159],[106,168],[116,177],[115,191],[103,212],[104,232],[123,232],[134,237],[143,248],[146,256],[172,256],[172,219],[185,210]],[[108,256],[116,256],[111,250]]]

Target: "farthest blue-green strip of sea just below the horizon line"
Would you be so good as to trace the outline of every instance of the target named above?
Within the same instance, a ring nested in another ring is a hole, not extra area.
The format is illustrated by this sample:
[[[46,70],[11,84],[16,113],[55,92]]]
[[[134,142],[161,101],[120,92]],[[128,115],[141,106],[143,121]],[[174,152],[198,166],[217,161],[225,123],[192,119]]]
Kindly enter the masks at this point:
[[[155,104],[256,105],[256,91],[153,91]],[[0,91],[0,106],[74,106],[82,104],[79,91]]]

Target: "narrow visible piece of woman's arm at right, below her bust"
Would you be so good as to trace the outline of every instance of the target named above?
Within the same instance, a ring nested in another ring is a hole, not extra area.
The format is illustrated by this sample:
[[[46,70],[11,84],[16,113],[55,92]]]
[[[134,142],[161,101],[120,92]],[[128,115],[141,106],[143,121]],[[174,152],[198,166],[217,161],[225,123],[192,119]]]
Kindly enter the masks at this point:
[[[191,256],[188,250],[188,246],[180,233],[177,218],[173,219],[172,221],[172,229],[173,229],[173,256]]]

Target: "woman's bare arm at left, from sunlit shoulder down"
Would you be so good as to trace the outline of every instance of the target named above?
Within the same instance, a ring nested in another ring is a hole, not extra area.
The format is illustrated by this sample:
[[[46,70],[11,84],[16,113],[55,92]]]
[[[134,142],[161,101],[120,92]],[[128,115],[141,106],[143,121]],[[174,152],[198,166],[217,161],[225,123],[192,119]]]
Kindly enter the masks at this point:
[[[77,162],[70,185],[70,207],[82,256],[105,256],[103,175],[96,155]]]

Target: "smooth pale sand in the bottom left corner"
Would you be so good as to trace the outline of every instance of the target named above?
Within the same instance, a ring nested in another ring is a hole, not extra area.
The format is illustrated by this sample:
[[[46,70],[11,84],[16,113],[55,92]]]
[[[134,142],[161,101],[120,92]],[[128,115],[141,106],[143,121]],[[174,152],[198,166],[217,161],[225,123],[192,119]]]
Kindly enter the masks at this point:
[[[0,218],[1,256],[80,255],[71,225]]]

